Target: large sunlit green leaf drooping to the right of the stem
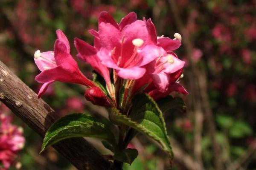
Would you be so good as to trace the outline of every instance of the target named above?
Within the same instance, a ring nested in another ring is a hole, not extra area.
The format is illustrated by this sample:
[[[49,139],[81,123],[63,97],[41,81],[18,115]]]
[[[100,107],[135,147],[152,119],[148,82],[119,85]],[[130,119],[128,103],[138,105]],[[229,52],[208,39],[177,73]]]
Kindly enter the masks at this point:
[[[162,112],[154,99],[147,94],[137,94],[132,99],[132,103],[132,111],[129,117],[122,115],[115,108],[112,109],[115,121],[128,125],[156,140],[172,159],[173,152],[167,136],[166,125]]]

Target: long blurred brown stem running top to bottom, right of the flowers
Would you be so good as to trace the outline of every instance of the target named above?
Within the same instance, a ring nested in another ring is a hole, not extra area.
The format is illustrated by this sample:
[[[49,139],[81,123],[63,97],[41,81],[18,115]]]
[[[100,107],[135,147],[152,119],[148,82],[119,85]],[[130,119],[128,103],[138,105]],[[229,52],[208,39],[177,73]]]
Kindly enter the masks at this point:
[[[220,148],[219,148],[217,139],[215,137],[216,128],[215,128],[215,123],[213,121],[212,110],[209,105],[209,96],[207,94],[207,82],[206,82],[207,77],[205,75],[205,71],[203,69],[196,67],[196,63],[192,59],[193,44],[191,41],[191,37],[188,31],[186,31],[186,27],[184,26],[184,23],[182,22],[182,19],[180,17],[180,12],[178,10],[176,0],[166,0],[166,2],[169,4],[169,9],[170,11],[172,11],[172,16],[175,20],[175,23],[177,24],[177,27],[183,36],[182,40],[186,49],[186,56],[189,59],[191,72],[194,77],[192,81],[195,81],[198,83],[198,87],[193,89],[192,93],[199,91],[199,94],[200,94],[200,98],[198,99],[198,101],[194,101],[194,102],[200,101],[201,109],[205,112],[206,121],[209,126],[209,133],[212,139],[212,149],[213,149],[213,155],[214,155],[215,169],[221,170],[222,162],[221,162],[221,156],[220,156]],[[197,150],[197,154],[198,154],[198,150]],[[199,159],[200,159],[200,155],[201,154],[198,155]]]

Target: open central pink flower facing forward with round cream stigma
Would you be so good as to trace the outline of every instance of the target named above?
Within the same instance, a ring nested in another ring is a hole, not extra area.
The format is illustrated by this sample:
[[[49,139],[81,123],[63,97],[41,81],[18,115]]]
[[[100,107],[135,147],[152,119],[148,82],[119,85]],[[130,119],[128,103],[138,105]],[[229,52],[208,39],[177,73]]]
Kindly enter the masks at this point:
[[[99,31],[90,31],[96,37],[97,53],[103,65],[116,70],[123,79],[139,79],[143,67],[161,55],[161,48],[146,43],[148,29],[144,21],[137,20],[134,12],[122,18],[119,24],[107,13],[99,17]]]

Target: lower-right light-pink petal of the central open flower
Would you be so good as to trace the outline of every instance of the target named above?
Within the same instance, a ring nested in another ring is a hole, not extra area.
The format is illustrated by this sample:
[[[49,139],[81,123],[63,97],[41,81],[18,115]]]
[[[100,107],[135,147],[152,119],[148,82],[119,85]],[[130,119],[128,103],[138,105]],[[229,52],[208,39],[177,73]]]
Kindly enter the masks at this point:
[[[142,50],[138,51],[138,58],[141,59],[141,61],[137,64],[137,66],[140,67],[146,65],[165,53],[166,52],[163,50],[163,48],[158,47],[157,45],[146,45]]]

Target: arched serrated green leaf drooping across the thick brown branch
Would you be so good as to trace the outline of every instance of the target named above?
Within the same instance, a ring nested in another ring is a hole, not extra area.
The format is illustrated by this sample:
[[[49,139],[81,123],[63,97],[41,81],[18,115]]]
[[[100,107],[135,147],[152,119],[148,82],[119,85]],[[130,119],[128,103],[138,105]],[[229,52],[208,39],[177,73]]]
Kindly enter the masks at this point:
[[[73,137],[95,137],[115,144],[115,137],[108,126],[98,122],[91,115],[75,113],[52,124],[44,137],[41,152],[52,144]]]

